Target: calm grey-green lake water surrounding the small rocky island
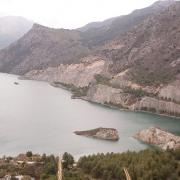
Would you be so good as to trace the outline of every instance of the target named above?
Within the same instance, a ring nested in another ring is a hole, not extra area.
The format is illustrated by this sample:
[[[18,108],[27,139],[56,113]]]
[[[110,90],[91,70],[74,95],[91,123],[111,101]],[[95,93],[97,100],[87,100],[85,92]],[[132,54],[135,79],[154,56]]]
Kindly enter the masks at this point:
[[[0,74],[0,155],[32,150],[47,154],[67,151],[78,157],[97,152],[141,150],[148,145],[132,136],[150,126],[180,134],[180,119],[119,111],[72,100],[70,95],[45,82]],[[73,134],[76,130],[97,127],[116,128],[120,140],[110,142]]]

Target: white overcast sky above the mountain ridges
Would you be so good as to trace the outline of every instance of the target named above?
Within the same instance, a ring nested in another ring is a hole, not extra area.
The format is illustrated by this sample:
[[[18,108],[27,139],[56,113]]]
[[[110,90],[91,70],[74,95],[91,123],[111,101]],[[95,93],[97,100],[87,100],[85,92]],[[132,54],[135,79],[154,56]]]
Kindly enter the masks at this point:
[[[23,16],[42,25],[76,28],[128,14],[155,0],[0,0],[0,16]]]

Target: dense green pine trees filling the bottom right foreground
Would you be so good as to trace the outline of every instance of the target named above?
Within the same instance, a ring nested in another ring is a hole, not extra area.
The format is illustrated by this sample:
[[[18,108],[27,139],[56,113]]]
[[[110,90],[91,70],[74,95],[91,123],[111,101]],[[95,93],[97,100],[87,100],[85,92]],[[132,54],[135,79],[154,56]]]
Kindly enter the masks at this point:
[[[79,159],[77,167],[64,171],[64,179],[125,180],[124,167],[128,169],[132,180],[179,180],[180,150],[84,156]]]

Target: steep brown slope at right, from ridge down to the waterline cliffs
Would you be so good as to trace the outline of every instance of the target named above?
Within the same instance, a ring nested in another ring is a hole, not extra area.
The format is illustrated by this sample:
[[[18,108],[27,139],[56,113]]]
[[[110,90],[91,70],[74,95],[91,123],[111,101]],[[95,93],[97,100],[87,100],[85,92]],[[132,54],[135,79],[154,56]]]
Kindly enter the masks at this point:
[[[111,79],[87,97],[131,110],[180,116],[180,2],[106,44]],[[102,84],[102,81],[100,82]],[[103,95],[104,94],[104,95]]]

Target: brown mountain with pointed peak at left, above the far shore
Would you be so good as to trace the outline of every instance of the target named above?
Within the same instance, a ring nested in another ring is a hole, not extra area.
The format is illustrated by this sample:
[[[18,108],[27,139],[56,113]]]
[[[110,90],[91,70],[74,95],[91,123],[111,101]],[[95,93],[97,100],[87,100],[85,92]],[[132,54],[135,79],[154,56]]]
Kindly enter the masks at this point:
[[[0,71],[24,74],[61,63],[78,62],[88,54],[76,30],[52,29],[38,24],[0,52]]]

